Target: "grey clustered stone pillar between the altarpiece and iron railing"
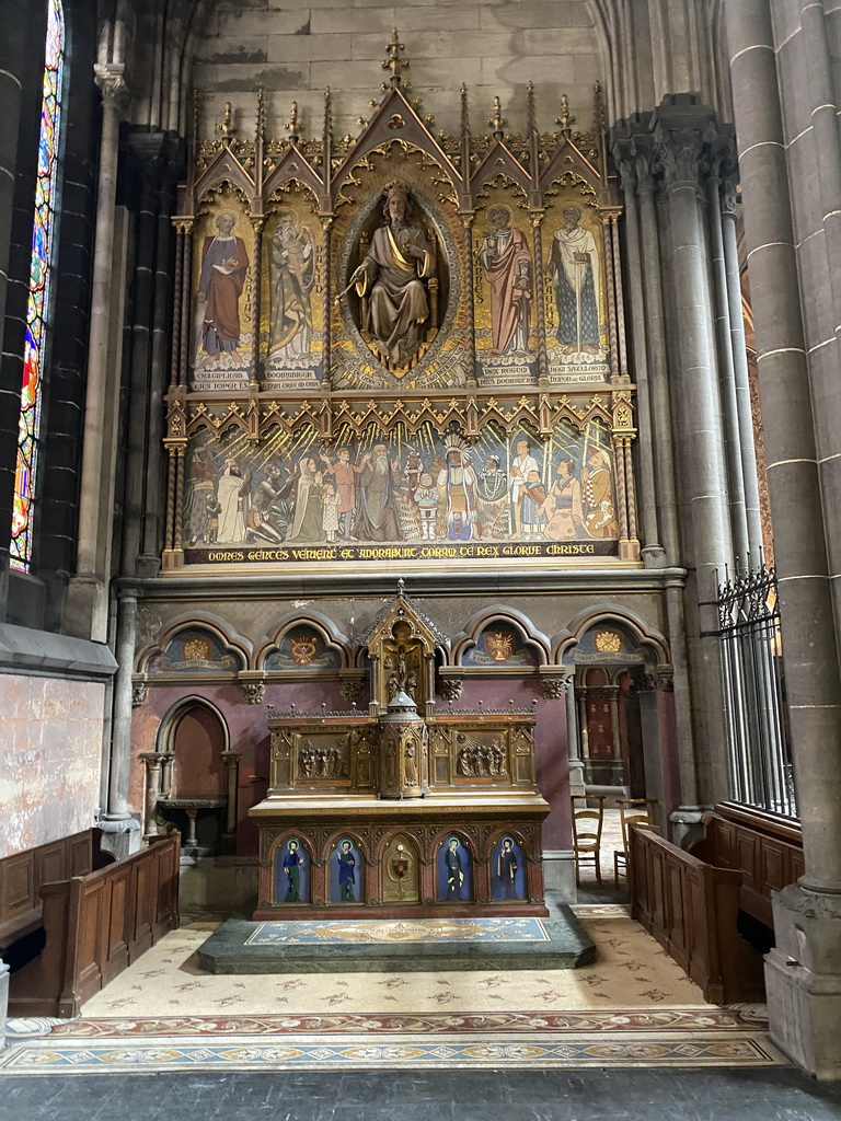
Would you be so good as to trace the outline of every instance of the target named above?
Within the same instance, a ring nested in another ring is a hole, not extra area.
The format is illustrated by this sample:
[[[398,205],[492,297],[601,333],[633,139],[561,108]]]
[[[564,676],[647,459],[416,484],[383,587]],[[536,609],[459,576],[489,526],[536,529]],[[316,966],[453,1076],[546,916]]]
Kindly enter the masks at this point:
[[[752,418],[741,324],[738,258],[728,211],[734,172],[732,128],[694,95],[664,99],[653,114],[613,129],[626,202],[631,342],[646,421],[660,438],[653,487],[666,563],[687,569],[666,587],[675,668],[682,805],[677,833],[700,805],[729,793],[715,609],[724,567],[738,553],[758,559]],[[658,195],[655,201],[656,194]],[[640,435],[640,447],[644,437]],[[650,503],[649,503],[650,504]],[[650,515],[643,509],[646,525]],[[736,543],[736,544],[734,544]],[[691,673],[690,673],[691,671]],[[690,688],[690,679],[692,688]]]

